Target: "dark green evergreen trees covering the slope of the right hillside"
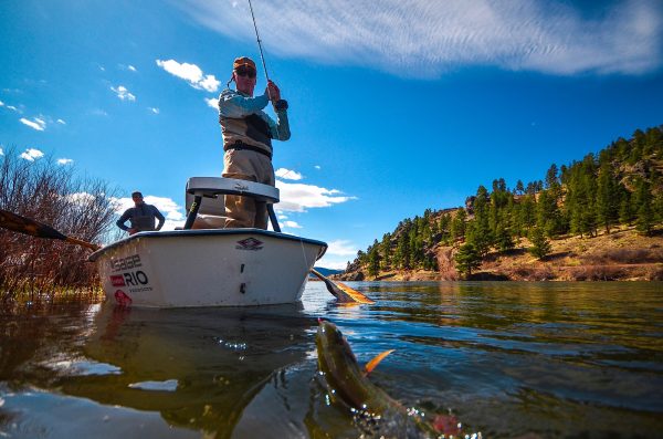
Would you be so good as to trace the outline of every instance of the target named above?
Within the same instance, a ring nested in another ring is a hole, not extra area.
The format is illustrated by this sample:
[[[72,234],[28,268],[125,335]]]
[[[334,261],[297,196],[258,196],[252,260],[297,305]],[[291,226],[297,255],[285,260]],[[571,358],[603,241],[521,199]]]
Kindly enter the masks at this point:
[[[598,154],[568,165],[550,165],[543,179],[508,188],[504,178],[478,186],[460,208],[404,219],[373,241],[347,271],[364,268],[376,276],[389,270],[436,271],[436,248],[456,249],[455,263],[469,274],[488,252],[507,252],[520,238],[539,259],[549,240],[590,239],[631,226],[651,236],[663,223],[663,125],[638,129]]]

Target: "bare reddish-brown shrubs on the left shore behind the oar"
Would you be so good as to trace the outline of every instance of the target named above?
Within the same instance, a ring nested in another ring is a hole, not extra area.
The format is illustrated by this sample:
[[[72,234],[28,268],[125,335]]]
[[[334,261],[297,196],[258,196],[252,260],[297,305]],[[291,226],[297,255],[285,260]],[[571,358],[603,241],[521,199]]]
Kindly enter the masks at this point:
[[[114,219],[115,189],[80,178],[71,166],[51,158],[25,160],[15,147],[0,157],[0,208],[35,219],[65,236],[103,242]],[[53,294],[63,288],[94,289],[90,250],[64,241],[40,239],[0,229],[0,297],[27,290]]]

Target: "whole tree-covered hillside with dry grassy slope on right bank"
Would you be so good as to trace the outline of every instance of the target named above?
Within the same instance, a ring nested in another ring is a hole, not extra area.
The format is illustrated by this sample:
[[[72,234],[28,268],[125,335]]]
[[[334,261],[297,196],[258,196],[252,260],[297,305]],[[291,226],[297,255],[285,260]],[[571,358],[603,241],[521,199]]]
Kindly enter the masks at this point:
[[[492,189],[402,220],[337,278],[663,280],[663,127]]]

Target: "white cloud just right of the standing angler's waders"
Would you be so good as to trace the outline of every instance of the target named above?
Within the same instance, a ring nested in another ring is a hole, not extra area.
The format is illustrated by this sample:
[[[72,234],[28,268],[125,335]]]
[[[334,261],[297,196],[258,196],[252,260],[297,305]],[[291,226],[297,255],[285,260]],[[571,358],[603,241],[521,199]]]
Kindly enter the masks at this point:
[[[307,208],[329,207],[349,200],[355,197],[341,197],[336,189],[326,189],[313,185],[299,182],[284,182],[276,180],[276,187],[281,191],[281,202],[274,205],[278,211],[304,212]]]

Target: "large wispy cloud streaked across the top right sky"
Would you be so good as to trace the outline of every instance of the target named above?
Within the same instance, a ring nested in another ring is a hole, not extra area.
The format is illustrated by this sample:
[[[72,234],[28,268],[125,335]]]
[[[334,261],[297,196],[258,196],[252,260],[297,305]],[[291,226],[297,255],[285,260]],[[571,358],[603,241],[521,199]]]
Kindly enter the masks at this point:
[[[582,2],[579,2],[582,3]],[[547,0],[273,0],[256,11],[271,53],[434,77],[463,66],[548,74],[641,74],[663,56],[663,3],[615,0],[582,9]],[[244,2],[186,0],[200,23],[253,38]]]

